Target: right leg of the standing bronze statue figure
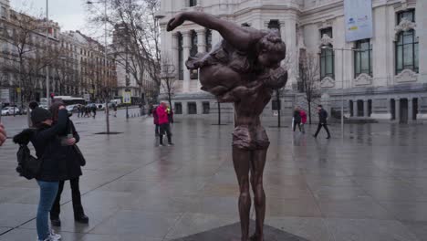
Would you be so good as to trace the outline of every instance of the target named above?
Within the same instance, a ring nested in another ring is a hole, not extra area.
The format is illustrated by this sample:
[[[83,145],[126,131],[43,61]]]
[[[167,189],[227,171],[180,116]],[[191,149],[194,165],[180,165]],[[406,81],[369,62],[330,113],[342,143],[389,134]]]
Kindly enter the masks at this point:
[[[266,193],[263,187],[263,173],[266,166],[267,150],[257,150],[251,159],[251,184],[255,195],[256,226],[255,235],[251,237],[254,241],[264,240],[264,219],[266,217]]]

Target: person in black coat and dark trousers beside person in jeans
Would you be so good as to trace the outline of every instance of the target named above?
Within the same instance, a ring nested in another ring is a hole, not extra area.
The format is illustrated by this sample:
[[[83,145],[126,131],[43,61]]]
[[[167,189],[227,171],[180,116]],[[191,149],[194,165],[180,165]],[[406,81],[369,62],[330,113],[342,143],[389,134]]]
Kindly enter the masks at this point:
[[[61,105],[61,102],[57,102],[54,103],[50,108],[53,116],[52,120],[54,126],[57,124],[59,111],[58,108]],[[61,194],[64,189],[65,180],[69,180],[71,186],[74,219],[78,223],[88,224],[89,217],[85,215],[83,210],[79,188],[79,177],[82,175],[80,166],[84,163],[82,163],[82,160],[80,159],[81,156],[79,156],[77,148],[74,146],[78,143],[78,141],[80,141],[80,136],[78,135],[78,131],[76,131],[73,121],[68,119],[66,130],[60,132],[58,138],[62,140],[62,146],[60,147],[61,151],[66,153],[65,162],[67,166],[67,172],[66,177],[59,181],[57,198],[55,199],[52,210],[50,211],[50,222],[54,226],[61,226],[61,220],[59,219]]]

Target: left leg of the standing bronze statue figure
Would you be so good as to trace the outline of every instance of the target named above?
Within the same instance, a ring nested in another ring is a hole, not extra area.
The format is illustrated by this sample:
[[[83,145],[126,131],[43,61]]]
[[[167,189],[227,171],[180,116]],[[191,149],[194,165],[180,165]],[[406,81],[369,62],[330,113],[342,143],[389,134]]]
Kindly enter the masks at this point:
[[[249,193],[249,170],[251,152],[233,147],[234,171],[240,188],[239,215],[242,228],[242,241],[249,239],[249,215],[251,211],[251,194]]]

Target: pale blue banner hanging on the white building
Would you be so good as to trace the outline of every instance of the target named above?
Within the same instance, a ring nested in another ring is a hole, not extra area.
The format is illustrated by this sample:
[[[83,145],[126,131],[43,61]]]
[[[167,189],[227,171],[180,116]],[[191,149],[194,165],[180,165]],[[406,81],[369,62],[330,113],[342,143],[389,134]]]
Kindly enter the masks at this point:
[[[344,0],[346,41],[373,37],[372,0]]]

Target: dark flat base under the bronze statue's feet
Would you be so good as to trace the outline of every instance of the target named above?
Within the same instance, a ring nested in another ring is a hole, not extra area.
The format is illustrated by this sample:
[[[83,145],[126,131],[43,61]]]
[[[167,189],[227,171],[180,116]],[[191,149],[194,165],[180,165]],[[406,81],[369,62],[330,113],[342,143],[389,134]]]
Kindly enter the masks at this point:
[[[254,233],[254,229],[255,222],[252,221],[250,234]],[[309,241],[306,238],[294,236],[269,225],[264,226],[264,233],[266,241]],[[172,241],[240,241],[240,223],[214,228],[192,236],[180,237]]]

